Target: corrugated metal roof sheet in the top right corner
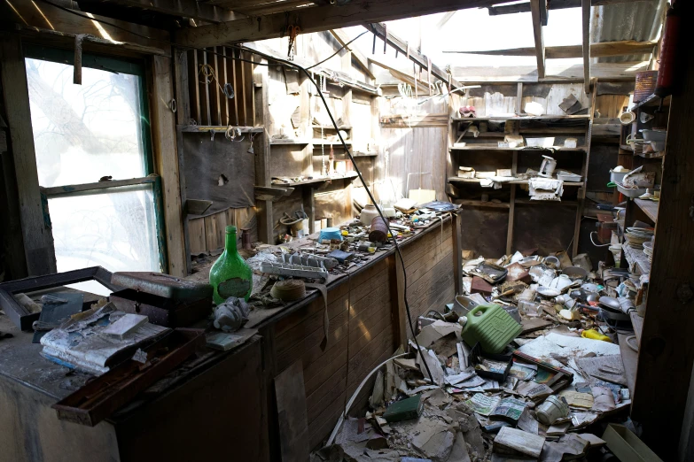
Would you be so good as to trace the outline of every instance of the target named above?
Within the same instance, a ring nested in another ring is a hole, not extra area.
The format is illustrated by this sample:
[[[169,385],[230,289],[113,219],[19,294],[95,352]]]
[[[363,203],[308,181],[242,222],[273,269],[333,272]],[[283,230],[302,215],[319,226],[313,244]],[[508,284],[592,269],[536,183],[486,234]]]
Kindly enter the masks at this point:
[[[649,42],[659,39],[660,27],[667,11],[667,0],[628,2],[593,7],[590,20],[590,42],[634,40]],[[645,61],[650,55],[628,55],[597,58],[601,63]]]

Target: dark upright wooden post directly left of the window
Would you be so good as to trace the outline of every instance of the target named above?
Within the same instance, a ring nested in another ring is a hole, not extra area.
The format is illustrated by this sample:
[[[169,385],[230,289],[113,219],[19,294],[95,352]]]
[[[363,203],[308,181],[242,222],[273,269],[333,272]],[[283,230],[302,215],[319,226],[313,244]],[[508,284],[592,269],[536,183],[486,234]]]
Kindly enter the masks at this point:
[[[43,202],[36,170],[27,71],[21,41],[19,35],[4,34],[0,36],[0,43],[3,61],[3,65],[0,65],[0,81],[3,85],[4,106],[7,108],[5,115],[12,145],[14,176],[17,180],[27,273],[29,276],[56,273],[48,202]]]

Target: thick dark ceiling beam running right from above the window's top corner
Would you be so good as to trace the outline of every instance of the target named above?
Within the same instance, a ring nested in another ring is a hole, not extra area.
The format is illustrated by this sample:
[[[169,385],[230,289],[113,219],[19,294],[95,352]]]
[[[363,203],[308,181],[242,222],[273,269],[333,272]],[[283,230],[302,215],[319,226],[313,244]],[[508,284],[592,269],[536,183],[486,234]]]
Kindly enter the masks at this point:
[[[345,6],[298,8],[289,13],[289,17],[285,12],[269,14],[263,16],[260,22],[248,18],[209,26],[189,27],[177,33],[176,42],[184,46],[205,48],[230,42],[277,38],[285,32],[288,20],[291,24],[298,24],[301,27],[301,34],[308,34],[338,27],[358,26],[365,22],[404,19],[492,4],[494,0],[429,0],[406,4],[400,0],[379,2],[359,0]]]

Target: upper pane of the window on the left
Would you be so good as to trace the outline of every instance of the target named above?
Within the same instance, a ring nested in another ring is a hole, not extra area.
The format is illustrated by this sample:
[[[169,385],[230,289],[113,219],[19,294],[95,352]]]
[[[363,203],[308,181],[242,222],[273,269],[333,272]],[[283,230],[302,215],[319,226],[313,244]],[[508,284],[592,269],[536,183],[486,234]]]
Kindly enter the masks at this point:
[[[140,77],[27,58],[36,165],[43,187],[146,176]]]

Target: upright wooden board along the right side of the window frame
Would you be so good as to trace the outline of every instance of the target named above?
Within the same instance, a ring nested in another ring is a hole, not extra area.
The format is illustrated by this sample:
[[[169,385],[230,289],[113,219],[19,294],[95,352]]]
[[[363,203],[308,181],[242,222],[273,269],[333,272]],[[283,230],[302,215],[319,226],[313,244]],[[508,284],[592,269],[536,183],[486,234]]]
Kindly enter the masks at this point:
[[[152,149],[154,166],[161,177],[164,199],[164,224],[168,253],[168,273],[187,275],[181,181],[176,150],[175,114],[169,104],[174,99],[171,58],[152,58],[152,86],[150,110],[152,112]]]

